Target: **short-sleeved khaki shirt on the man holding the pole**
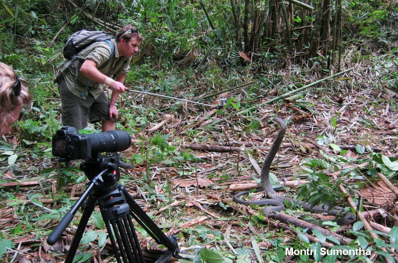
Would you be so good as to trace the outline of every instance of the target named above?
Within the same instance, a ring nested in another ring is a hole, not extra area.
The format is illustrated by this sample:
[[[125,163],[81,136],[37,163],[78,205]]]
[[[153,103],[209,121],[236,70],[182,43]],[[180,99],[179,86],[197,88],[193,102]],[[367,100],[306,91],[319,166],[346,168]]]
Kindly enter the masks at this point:
[[[69,65],[71,64],[70,60],[67,60],[57,67],[61,72],[63,72],[67,67],[71,67],[71,69],[65,74],[64,79],[68,89],[73,94],[86,99],[89,92],[94,96],[94,98],[98,98],[98,96],[103,92],[102,85],[100,83],[96,83],[80,73],[80,67],[86,59],[96,62],[97,69],[110,78],[117,74],[126,75],[128,73],[130,70],[131,57],[119,57],[116,40],[112,39],[111,41],[114,44],[114,57],[108,63],[107,61],[112,55],[111,47],[107,42],[100,41],[95,42],[80,51],[73,65]],[[101,68],[103,64],[106,64],[106,66]]]

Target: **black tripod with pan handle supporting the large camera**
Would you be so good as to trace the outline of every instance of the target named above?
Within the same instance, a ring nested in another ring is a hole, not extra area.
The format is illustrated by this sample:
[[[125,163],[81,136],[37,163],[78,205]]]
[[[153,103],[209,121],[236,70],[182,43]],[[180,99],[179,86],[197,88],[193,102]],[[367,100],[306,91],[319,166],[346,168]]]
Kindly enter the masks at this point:
[[[171,257],[182,258],[179,255],[180,249],[177,239],[173,236],[166,236],[135,202],[127,189],[117,183],[120,179],[120,171],[115,164],[114,157],[100,156],[100,158],[91,158],[82,163],[80,169],[90,179],[87,189],[71,210],[61,219],[47,239],[49,245],[54,245],[73,220],[75,213],[82,207],[83,215],[65,263],[73,263],[85,228],[97,203],[100,207],[117,263],[145,263],[132,218],[147,231],[156,243],[164,245],[168,249],[155,263],[166,262]]]

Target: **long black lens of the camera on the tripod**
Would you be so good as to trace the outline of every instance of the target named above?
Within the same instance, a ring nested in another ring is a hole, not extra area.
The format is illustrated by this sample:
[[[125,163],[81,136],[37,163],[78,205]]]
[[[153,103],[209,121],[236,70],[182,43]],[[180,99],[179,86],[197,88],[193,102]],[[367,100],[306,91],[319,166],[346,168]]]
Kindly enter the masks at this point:
[[[130,134],[122,130],[93,133],[88,137],[91,138],[92,152],[121,152],[131,145]]]

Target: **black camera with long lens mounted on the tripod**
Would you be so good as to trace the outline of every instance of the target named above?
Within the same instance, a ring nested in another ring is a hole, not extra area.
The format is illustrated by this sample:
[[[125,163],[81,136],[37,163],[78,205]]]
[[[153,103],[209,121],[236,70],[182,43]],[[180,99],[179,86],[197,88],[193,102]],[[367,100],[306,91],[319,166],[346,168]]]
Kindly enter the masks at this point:
[[[52,139],[53,155],[68,160],[98,158],[99,153],[121,152],[130,145],[131,137],[126,131],[81,134],[71,126],[63,126]]]

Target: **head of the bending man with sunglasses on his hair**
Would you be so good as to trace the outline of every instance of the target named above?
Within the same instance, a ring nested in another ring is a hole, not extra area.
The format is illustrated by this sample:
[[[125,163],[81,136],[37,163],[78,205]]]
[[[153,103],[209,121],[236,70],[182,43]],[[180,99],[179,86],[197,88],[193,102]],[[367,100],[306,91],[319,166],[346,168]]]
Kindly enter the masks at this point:
[[[131,57],[138,52],[138,47],[144,37],[133,25],[126,25],[115,36],[119,55]]]

